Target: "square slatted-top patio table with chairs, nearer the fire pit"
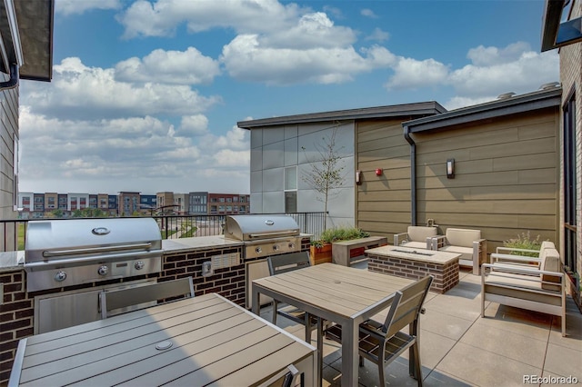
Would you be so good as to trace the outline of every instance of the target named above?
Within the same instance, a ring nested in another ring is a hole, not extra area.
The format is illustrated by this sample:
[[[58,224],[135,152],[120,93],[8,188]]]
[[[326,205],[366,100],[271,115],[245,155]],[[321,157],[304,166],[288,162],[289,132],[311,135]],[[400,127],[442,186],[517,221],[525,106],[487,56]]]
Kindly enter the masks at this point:
[[[359,324],[386,310],[394,293],[414,280],[372,273],[334,263],[309,266],[253,281],[253,312],[260,312],[260,295],[296,306],[342,326],[343,386],[356,386]],[[321,324],[317,330],[321,374]],[[321,383],[321,379],[318,380]]]

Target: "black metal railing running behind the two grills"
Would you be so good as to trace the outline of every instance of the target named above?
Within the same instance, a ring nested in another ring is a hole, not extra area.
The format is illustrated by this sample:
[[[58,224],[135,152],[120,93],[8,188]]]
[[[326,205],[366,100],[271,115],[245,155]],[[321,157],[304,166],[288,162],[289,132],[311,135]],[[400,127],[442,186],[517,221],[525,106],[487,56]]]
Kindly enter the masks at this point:
[[[323,231],[325,213],[265,213],[266,215],[291,216],[299,225],[301,233],[314,235],[314,239],[319,237]],[[155,215],[162,239],[178,239],[196,236],[220,235],[223,233],[226,215]],[[66,218],[66,219],[86,219],[86,218]],[[96,219],[96,218],[95,218]],[[26,227],[28,222],[38,222],[47,219],[13,219],[0,220],[0,252],[11,252],[25,250]],[[58,220],[51,218],[50,220]]]

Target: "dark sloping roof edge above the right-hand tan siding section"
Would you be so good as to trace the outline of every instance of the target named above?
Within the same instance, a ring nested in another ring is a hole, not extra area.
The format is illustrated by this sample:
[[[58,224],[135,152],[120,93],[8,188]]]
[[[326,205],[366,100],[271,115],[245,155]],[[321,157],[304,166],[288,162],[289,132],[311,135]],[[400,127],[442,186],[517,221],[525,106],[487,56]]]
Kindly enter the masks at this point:
[[[425,132],[456,124],[468,124],[480,120],[518,114],[552,106],[560,106],[562,88],[554,86],[536,92],[497,99],[485,104],[476,104],[450,110],[443,114],[417,118],[402,123],[409,133]]]

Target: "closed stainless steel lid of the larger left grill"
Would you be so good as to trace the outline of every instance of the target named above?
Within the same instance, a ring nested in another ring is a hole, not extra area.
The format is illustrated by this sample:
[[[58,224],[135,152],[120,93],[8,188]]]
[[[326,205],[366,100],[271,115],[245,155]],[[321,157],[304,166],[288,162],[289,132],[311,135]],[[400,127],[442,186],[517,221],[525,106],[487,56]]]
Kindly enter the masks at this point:
[[[153,218],[35,221],[26,229],[25,265],[161,249],[162,237]]]

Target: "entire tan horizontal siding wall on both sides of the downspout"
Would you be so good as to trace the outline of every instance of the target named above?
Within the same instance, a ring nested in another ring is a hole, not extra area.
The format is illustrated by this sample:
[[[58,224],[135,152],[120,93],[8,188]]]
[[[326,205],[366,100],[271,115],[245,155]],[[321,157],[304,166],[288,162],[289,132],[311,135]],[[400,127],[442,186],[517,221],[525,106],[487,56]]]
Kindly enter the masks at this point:
[[[416,223],[478,228],[489,253],[530,231],[557,241],[558,109],[414,134]],[[410,146],[400,122],[358,124],[357,225],[392,238],[410,224]],[[447,159],[456,178],[447,179]],[[384,168],[377,177],[376,168]]]

